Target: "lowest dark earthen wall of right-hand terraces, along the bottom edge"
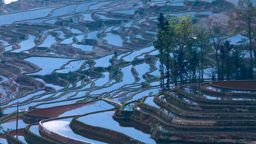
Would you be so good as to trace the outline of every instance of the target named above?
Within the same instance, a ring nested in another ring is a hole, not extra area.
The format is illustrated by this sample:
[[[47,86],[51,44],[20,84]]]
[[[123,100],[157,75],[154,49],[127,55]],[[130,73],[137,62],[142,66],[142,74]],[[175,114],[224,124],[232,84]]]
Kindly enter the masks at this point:
[[[126,111],[118,110],[115,112],[114,119],[130,120],[150,127],[151,137],[158,142],[186,142],[200,144],[242,144],[244,140],[256,140],[254,134],[235,134],[222,132],[164,132],[160,130],[158,124],[163,124],[157,118],[139,110]],[[193,130],[187,126],[188,130]],[[194,130],[195,131],[195,130]],[[251,139],[252,138],[252,139]]]

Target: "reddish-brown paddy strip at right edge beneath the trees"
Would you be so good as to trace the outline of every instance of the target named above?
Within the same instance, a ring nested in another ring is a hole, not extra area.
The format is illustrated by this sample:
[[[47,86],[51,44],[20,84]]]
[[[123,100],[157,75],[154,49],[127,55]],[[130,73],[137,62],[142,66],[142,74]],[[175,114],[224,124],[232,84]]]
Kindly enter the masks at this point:
[[[214,84],[229,88],[256,89],[256,81],[214,82]]]

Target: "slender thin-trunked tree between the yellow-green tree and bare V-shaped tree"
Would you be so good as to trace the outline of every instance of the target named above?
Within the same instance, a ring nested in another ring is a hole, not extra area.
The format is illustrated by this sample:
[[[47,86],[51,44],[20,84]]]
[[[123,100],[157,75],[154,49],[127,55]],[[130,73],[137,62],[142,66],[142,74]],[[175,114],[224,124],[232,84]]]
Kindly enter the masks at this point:
[[[200,24],[196,27],[196,40],[198,41],[198,47],[201,51],[201,69],[202,69],[202,82],[204,82],[204,48],[203,45],[206,44],[206,42],[209,42],[209,36],[206,28],[203,24]]]

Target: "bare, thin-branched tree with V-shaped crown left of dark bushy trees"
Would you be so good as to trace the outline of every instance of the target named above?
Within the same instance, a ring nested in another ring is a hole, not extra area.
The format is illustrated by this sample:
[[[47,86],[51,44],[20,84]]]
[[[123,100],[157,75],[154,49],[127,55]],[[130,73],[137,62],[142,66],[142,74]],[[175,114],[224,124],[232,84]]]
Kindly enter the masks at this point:
[[[214,19],[212,21],[206,21],[206,25],[208,28],[210,39],[213,42],[214,49],[216,50],[215,57],[217,62],[217,74],[218,74],[218,80],[220,79],[220,63],[218,59],[218,50],[220,49],[221,43],[224,41],[225,37],[223,36],[225,34],[224,30],[224,23],[225,19]]]

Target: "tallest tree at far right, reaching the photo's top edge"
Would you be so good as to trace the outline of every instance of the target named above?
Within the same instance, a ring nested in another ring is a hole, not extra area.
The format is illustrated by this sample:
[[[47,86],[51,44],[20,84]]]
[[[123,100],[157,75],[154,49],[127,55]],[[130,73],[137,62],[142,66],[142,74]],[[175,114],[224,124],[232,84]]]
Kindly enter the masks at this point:
[[[239,0],[238,6],[235,9],[236,16],[231,19],[230,26],[234,30],[244,32],[248,35],[250,42],[250,79],[253,78],[253,63],[252,63],[252,24],[256,16],[256,7],[252,5],[251,0]],[[237,21],[237,22],[235,22]],[[238,22],[239,21],[239,22]]]

